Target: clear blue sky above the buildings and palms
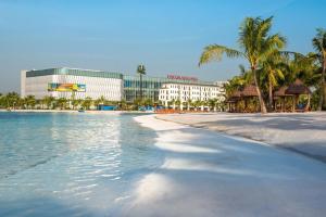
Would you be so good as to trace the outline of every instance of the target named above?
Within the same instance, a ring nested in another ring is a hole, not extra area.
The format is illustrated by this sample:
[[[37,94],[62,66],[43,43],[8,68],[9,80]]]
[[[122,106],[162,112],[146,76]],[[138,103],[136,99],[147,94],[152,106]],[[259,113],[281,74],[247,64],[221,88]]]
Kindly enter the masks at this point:
[[[22,69],[74,67],[226,80],[244,60],[198,67],[203,48],[238,49],[247,16],[274,16],[286,50],[313,51],[326,0],[0,0],[0,92],[20,91]]]

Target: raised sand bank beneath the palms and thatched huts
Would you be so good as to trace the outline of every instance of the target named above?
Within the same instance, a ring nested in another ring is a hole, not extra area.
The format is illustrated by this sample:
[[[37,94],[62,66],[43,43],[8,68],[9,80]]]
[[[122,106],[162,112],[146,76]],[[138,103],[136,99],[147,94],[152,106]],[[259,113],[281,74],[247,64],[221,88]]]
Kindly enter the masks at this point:
[[[158,118],[264,141],[326,162],[326,113],[175,114]]]

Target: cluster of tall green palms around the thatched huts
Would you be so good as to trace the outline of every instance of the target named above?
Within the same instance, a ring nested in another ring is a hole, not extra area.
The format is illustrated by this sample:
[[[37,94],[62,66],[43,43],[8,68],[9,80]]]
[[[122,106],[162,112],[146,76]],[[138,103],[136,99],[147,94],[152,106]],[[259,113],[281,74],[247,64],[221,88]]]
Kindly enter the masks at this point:
[[[247,17],[239,27],[239,49],[210,44],[203,49],[199,65],[227,58],[247,60],[248,68],[240,65],[240,75],[229,79],[227,97],[247,85],[254,85],[260,111],[273,111],[273,93],[279,87],[288,86],[296,79],[313,90],[311,107],[326,110],[326,30],[318,28],[312,39],[314,51],[302,54],[285,50],[287,38],[271,34],[273,16],[268,18]]]

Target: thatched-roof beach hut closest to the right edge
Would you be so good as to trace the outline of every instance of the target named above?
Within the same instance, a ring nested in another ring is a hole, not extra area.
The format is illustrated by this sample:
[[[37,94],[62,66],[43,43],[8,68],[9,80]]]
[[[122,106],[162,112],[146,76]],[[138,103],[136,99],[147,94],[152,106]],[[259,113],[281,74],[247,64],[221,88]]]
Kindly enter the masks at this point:
[[[286,89],[285,93],[292,95],[292,112],[296,112],[296,111],[302,112],[302,111],[309,110],[311,91],[300,79],[297,79],[293,84],[289,85],[289,87]],[[298,106],[299,95],[301,95],[301,94],[308,95],[308,103],[306,103],[305,107]]]

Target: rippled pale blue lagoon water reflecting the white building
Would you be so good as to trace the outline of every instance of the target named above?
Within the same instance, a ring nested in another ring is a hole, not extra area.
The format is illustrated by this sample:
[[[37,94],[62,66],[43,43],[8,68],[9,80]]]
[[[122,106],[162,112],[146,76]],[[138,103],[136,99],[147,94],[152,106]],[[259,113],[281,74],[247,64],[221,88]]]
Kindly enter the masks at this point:
[[[114,216],[158,168],[133,115],[0,113],[0,216]]]

